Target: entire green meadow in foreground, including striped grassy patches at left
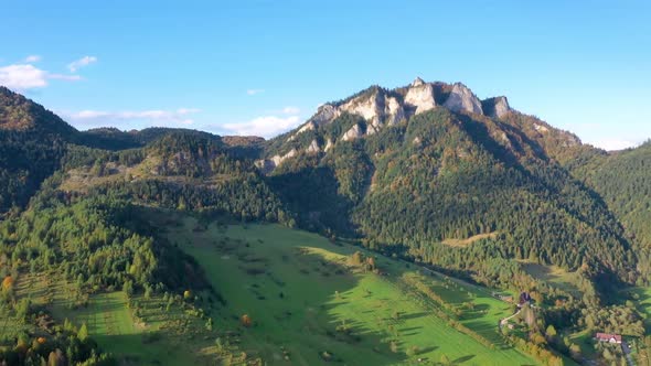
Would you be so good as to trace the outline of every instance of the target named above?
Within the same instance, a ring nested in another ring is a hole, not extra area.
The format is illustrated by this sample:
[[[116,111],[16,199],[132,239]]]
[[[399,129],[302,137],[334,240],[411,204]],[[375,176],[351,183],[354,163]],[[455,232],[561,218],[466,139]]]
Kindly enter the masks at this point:
[[[220,301],[182,293],[130,299],[78,290],[62,273],[25,273],[17,295],[89,335],[124,365],[535,365],[503,341],[513,306],[492,291],[419,266],[279,225],[206,224],[148,211],[150,223],[194,257]],[[364,259],[355,263],[353,254]],[[374,258],[374,269],[367,258]],[[92,291],[93,292],[93,291]],[[248,315],[250,326],[242,322]],[[18,332],[2,314],[0,332]],[[206,320],[212,319],[207,329]]]

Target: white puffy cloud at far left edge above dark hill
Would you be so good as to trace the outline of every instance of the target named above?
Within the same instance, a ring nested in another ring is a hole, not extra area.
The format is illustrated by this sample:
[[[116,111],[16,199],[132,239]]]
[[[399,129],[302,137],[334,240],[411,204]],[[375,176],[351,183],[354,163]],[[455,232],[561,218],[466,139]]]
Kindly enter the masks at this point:
[[[15,90],[29,90],[47,86],[47,80],[81,80],[78,75],[52,74],[32,64],[0,66],[0,85]]]

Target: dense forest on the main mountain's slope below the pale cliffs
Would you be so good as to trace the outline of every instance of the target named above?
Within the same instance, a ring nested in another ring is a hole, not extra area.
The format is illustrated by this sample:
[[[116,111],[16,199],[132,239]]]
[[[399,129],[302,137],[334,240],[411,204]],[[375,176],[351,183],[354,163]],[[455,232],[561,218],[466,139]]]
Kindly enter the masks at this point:
[[[344,115],[322,133],[299,137],[327,140],[333,125],[343,123],[341,131],[356,122]],[[492,140],[495,131],[519,149]],[[474,271],[470,263],[515,258],[568,271],[585,267],[586,274],[602,276],[600,284],[634,282],[636,257],[608,207],[510,133],[498,122],[438,109],[337,144],[322,158],[300,154],[270,179],[287,202],[305,205],[298,212],[308,227],[363,237],[374,248],[407,246],[410,256],[438,267]],[[482,249],[440,245],[482,234],[492,234]]]

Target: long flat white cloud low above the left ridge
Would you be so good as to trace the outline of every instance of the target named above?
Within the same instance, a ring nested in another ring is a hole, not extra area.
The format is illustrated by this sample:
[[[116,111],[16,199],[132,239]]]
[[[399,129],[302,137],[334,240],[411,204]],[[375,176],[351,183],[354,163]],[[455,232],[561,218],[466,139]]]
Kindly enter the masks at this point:
[[[130,129],[135,127],[179,127],[193,125],[190,115],[200,112],[196,108],[179,108],[175,110],[81,110],[76,112],[60,111],[60,115],[79,128],[117,127]]]

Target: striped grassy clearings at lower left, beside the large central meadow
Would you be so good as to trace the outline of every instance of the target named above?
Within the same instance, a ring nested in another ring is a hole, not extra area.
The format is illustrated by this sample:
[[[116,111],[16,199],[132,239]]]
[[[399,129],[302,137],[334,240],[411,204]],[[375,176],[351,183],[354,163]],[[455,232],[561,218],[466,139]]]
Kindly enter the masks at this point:
[[[136,316],[121,291],[92,294],[86,306],[71,306],[74,286],[55,271],[23,274],[17,284],[18,298],[46,308],[58,324],[66,319],[77,327],[86,323],[93,340],[125,365],[214,365],[218,333],[207,332],[204,321],[186,313],[180,303],[167,311],[160,294],[131,299],[131,304],[138,304]],[[0,336],[13,337],[26,330],[15,324],[12,316],[1,316]]]

